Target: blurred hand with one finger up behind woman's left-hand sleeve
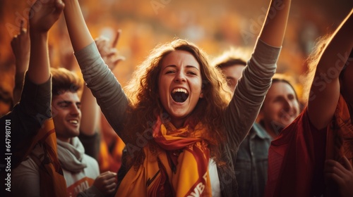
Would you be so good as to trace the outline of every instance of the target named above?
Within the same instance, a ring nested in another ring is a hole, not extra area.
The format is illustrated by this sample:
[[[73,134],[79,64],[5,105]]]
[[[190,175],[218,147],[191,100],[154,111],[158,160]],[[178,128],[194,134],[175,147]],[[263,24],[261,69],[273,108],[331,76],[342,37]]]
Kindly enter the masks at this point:
[[[98,51],[100,51],[100,56],[102,56],[104,62],[108,65],[110,70],[114,70],[120,61],[125,60],[124,56],[119,56],[119,51],[115,48],[119,41],[120,34],[121,30],[117,30],[112,44],[110,44],[109,39],[106,37],[97,37],[95,39],[95,44],[97,45]]]

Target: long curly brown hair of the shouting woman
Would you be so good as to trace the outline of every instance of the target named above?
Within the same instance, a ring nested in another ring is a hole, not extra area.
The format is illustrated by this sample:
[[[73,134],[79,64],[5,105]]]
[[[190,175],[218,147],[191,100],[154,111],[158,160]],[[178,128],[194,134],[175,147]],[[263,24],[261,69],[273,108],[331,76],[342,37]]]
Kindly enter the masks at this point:
[[[162,116],[162,121],[168,120],[162,103],[158,98],[158,78],[161,63],[165,56],[172,51],[187,51],[196,58],[200,64],[203,80],[203,98],[200,99],[190,117],[202,122],[207,131],[211,156],[220,158],[218,144],[224,141],[224,127],[222,114],[228,106],[232,94],[227,91],[227,83],[217,68],[209,65],[208,57],[201,49],[183,39],[174,39],[172,42],[158,45],[153,49],[143,63],[133,73],[131,80],[124,88],[130,99],[131,110],[125,122],[123,137],[126,139],[126,148],[135,166],[143,162],[143,147],[154,142],[152,140],[152,126],[157,120],[157,115]],[[132,148],[131,148],[132,147]],[[150,148],[152,150],[153,148]]]

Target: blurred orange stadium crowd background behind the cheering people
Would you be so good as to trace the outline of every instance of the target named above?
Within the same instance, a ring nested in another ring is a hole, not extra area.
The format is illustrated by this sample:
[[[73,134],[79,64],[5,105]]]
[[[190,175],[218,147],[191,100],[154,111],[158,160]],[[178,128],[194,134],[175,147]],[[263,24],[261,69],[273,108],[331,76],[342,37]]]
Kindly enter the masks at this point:
[[[27,18],[31,2],[0,0],[0,86],[8,91],[12,91],[15,70],[11,38],[18,34],[20,20]],[[93,38],[113,39],[114,32],[122,30],[116,49],[126,61],[116,66],[114,74],[124,85],[151,49],[174,37],[196,43],[210,58],[231,46],[252,49],[269,2],[86,0],[80,5]],[[277,72],[289,73],[301,82],[313,42],[335,30],[352,6],[352,0],[293,0]],[[73,56],[63,15],[49,33],[49,49],[53,67],[65,66],[63,57]]]

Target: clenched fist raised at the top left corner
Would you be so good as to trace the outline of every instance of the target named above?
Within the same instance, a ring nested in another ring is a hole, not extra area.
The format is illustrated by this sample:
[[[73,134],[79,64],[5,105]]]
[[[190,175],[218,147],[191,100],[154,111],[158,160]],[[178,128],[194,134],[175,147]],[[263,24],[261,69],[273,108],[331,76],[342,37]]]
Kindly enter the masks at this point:
[[[35,1],[30,11],[30,30],[37,33],[47,32],[59,19],[63,9],[64,2],[61,0]]]

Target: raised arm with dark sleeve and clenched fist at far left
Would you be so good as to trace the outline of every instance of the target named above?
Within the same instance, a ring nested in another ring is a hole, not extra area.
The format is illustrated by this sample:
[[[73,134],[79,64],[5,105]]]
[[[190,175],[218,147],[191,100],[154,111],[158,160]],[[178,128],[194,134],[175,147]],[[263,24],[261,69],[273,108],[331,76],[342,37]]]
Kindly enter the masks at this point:
[[[13,125],[16,125],[14,130],[19,131],[13,132],[13,135],[16,135],[16,137],[13,137],[18,141],[28,140],[28,136],[35,135],[36,129],[42,126],[44,120],[52,116],[49,113],[52,102],[52,83],[49,80],[50,65],[47,38],[48,31],[59,18],[64,4],[59,0],[46,1],[45,3],[38,0],[32,8],[38,7],[40,9],[32,10],[34,14],[29,21],[30,50],[32,52],[30,53],[28,72],[23,84],[23,93],[20,103],[13,108],[11,113]],[[24,35],[22,34],[22,36]],[[18,50],[25,49],[19,47]],[[18,53],[23,52],[25,51],[18,51]],[[22,89],[22,85],[19,89]]]

